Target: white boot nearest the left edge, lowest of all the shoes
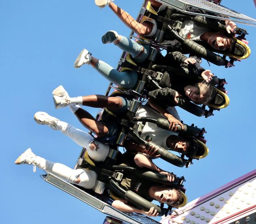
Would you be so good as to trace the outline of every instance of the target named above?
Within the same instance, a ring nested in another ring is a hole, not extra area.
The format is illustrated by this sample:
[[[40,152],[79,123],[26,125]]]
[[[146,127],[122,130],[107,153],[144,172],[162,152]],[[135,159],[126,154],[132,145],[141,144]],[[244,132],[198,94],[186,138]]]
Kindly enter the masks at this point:
[[[32,150],[29,148],[24,153],[22,153],[18,159],[14,162],[17,165],[20,164],[27,164],[27,165],[34,165],[34,172],[36,171],[36,167],[45,170],[46,168],[46,161],[44,158],[36,156]]]

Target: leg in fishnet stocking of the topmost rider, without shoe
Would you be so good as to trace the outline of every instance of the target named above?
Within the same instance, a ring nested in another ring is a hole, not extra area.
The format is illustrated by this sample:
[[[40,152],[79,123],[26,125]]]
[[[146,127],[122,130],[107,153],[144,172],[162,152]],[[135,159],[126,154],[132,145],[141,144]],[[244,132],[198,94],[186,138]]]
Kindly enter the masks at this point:
[[[138,23],[129,13],[119,8],[115,3],[110,2],[109,7],[118,16],[121,21],[127,25],[132,31],[141,35],[147,36],[151,33],[153,24],[145,21],[145,23]]]

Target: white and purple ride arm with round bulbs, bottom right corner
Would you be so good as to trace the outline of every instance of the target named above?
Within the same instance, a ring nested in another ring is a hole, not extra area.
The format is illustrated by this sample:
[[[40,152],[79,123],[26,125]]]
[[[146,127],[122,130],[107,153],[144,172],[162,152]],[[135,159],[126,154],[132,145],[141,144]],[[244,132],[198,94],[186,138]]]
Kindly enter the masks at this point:
[[[162,224],[209,223],[254,224],[256,223],[256,170],[245,174],[220,188],[203,195],[185,207],[163,218]],[[178,216],[177,216],[178,215]]]

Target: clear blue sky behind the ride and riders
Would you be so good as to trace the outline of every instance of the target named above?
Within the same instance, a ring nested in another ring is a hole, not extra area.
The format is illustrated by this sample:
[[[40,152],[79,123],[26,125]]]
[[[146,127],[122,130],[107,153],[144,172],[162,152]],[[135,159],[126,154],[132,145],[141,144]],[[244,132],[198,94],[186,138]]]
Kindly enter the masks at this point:
[[[136,17],[142,1],[115,0]],[[252,0],[223,0],[222,4],[255,17]],[[17,166],[15,159],[31,147],[36,153],[70,167],[76,162],[80,147],[61,133],[34,122],[37,111],[84,129],[69,109],[55,110],[51,92],[60,84],[71,96],[104,94],[108,82],[89,66],[74,69],[78,53],[87,48],[94,57],[116,66],[121,51],[103,45],[101,36],[108,30],[128,35],[130,30],[109,8],[100,10],[93,0],[2,0],[0,1],[0,100],[2,181],[0,185],[1,223],[101,223],[104,214],[92,209],[44,182],[31,166]],[[248,29],[249,59],[230,69],[203,63],[229,83],[231,103],[208,119],[195,117],[179,109],[186,124],[207,130],[210,154],[191,167],[174,167],[160,159],[157,164],[187,179],[189,201],[252,171],[255,168],[255,27]],[[93,115],[97,109],[86,108]]]

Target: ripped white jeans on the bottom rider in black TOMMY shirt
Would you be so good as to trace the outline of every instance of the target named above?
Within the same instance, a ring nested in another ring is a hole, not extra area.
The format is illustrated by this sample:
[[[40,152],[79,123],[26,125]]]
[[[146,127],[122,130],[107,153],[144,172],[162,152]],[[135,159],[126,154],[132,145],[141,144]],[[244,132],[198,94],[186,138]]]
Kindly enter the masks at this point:
[[[109,146],[95,140],[87,132],[79,130],[63,121],[57,121],[57,130],[61,131],[66,136],[69,136],[69,138],[71,138],[81,147],[86,148],[89,157],[93,161],[104,161],[106,159],[109,153]],[[38,157],[37,160],[38,167],[54,174],[62,180],[77,184],[87,189],[91,189],[97,180],[97,173],[92,170],[73,170],[66,165],[54,163],[41,157]]]

